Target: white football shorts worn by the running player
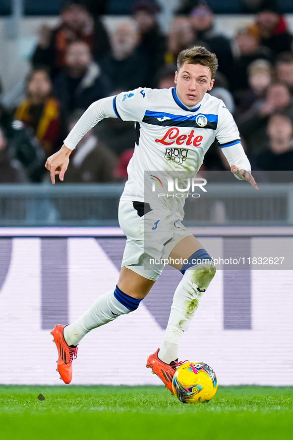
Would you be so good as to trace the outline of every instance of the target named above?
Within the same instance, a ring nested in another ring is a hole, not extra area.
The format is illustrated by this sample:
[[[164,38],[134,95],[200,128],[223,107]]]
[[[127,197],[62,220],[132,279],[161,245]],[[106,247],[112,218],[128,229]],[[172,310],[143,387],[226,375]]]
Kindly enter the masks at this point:
[[[133,203],[139,208],[135,209]],[[143,202],[119,201],[119,225],[127,237],[121,266],[156,281],[173,248],[192,233],[172,213],[166,216],[166,210],[141,211],[143,206]]]

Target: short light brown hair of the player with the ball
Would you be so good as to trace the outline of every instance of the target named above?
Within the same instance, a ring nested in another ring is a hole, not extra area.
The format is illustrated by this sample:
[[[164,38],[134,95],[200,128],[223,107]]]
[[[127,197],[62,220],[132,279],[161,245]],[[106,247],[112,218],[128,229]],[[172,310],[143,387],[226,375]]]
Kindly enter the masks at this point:
[[[177,71],[185,64],[200,64],[210,69],[212,79],[215,78],[218,69],[218,59],[215,53],[202,46],[194,46],[192,49],[181,50],[177,58]]]

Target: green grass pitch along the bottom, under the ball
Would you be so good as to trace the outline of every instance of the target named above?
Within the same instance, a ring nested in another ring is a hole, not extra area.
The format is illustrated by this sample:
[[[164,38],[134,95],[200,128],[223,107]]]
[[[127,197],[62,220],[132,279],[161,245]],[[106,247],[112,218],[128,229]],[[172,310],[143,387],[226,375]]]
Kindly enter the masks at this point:
[[[292,440],[293,387],[219,387],[182,404],[164,387],[0,386],[0,440],[35,439]]]

